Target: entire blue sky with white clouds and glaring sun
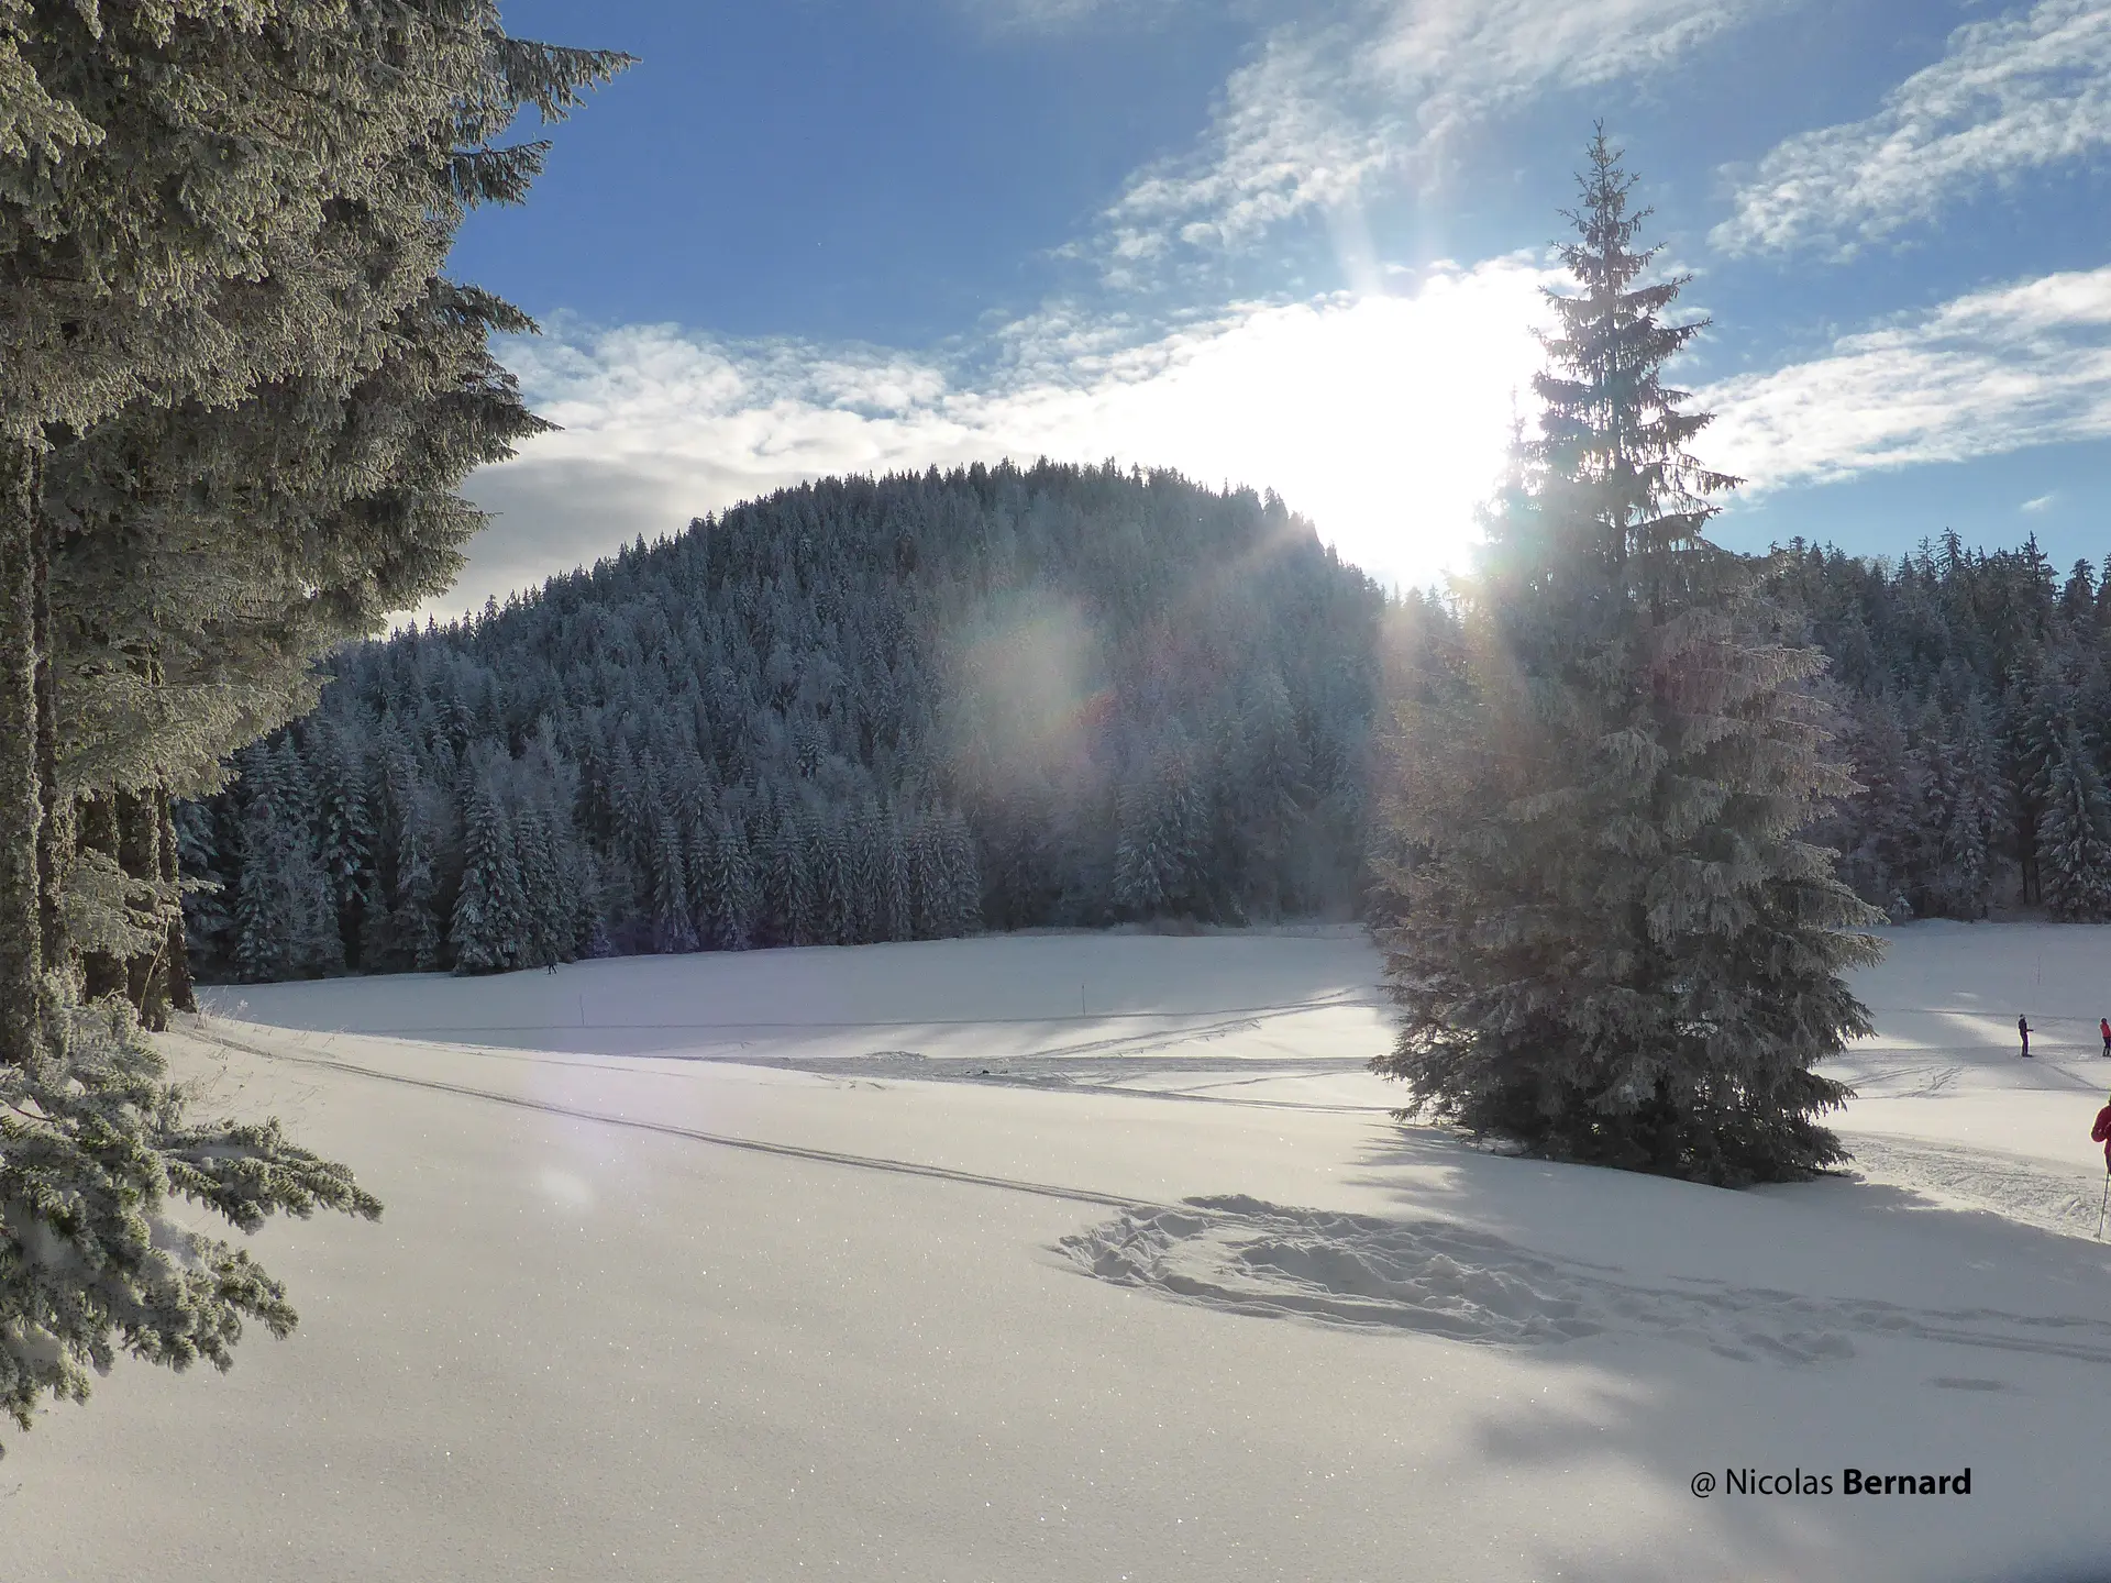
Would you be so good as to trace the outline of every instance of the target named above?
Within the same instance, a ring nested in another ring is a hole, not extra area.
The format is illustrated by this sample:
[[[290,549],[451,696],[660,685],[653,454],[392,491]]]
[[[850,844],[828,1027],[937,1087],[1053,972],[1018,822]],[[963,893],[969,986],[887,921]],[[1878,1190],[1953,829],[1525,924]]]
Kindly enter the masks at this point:
[[[640,65],[454,270],[566,433],[443,608],[798,479],[1049,454],[1469,555],[1594,118],[1718,519],[2111,553],[2111,0],[513,0]]]

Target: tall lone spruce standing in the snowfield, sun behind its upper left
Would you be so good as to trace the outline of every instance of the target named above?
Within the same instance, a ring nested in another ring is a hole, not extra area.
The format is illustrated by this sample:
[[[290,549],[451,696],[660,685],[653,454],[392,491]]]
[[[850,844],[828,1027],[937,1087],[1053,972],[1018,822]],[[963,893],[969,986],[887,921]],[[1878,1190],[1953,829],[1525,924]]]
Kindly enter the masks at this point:
[[[1799,840],[1851,789],[1756,568],[1704,536],[1735,479],[1687,454],[1708,414],[1663,365],[1682,279],[1642,283],[1647,211],[1600,133],[1566,213],[1573,293],[1535,380],[1541,437],[1488,513],[1459,663],[1412,678],[1383,787],[1402,1011],[1374,1062],[1412,1110],[1541,1155],[1704,1182],[1839,1161],[1845,1089],[1811,1068],[1868,1030],[1843,969],[1875,914]]]

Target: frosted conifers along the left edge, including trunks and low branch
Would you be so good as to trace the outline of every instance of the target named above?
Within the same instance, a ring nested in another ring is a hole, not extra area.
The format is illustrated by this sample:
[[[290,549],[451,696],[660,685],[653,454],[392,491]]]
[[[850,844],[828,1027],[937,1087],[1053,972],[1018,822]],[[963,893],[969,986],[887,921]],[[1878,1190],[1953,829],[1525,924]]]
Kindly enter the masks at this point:
[[[486,352],[526,319],[441,262],[540,163],[494,144],[515,112],[625,63],[509,40],[492,0],[0,0],[0,1401],[23,1427],[116,1347],[226,1368],[245,1317],[293,1325],[171,1195],[239,1231],[380,1209],[277,1123],[190,1125],[133,1011],[188,1000],[182,853],[245,855],[198,905],[285,975],[342,967],[418,840],[376,844],[372,764],[327,737],[253,751],[226,821],[171,794],[452,576],[479,521],[454,483],[538,424]]]

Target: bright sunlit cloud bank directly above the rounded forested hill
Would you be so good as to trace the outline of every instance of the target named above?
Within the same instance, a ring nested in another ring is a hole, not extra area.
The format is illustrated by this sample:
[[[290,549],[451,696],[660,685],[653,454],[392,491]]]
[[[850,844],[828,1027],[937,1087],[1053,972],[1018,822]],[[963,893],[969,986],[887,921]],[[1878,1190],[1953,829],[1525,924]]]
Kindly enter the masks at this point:
[[[1469,540],[1514,395],[1528,399],[1545,279],[1514,255],[1148,340],[1043,314],[1001,338],[982,380],[882,348],[557,325],[507,359],[566,433],[471,479],[500,517],[439,608],[804,479],[1005,456],[1273,488],[1372,574],[1427,580]]]

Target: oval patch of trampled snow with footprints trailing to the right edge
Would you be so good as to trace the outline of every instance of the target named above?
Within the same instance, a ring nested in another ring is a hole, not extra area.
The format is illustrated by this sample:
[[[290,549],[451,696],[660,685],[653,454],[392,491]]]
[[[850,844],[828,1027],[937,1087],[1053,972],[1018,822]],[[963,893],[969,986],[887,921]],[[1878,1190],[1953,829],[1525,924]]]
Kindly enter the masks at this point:
[[[2111,1363],[2111,1321],[2103,1319],[1929,1311],[1710,1279],[1647,1285],[1444,1220],[1376,1220],[1237,1195],[1131,1207],[1064,1237],[1058,1252],[1102,1281],[1226,1313],[1484,1344],[1623,1334],[1744,1361],[1826,1363],[1853,1357],[1856,1336],[1881,1336]]]

